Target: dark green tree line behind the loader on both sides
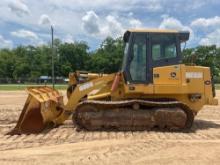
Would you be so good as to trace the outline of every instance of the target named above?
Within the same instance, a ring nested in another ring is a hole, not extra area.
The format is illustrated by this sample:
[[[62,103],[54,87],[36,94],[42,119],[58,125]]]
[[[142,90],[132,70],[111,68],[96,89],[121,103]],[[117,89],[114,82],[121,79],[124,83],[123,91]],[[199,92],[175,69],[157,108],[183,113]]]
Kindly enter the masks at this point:
[[[107,37],[95,51],[86,42],[54,41],[56,77],[84,70],[98,73],[119,71],[124,54],[122,38]],[[215,81],[220,82],[220,48],[198,46],[183,51],[183,62],[211,67]],[[51,46],[18,46],[0,50],[0,83],[36,82],[40,76],[51,76]]]

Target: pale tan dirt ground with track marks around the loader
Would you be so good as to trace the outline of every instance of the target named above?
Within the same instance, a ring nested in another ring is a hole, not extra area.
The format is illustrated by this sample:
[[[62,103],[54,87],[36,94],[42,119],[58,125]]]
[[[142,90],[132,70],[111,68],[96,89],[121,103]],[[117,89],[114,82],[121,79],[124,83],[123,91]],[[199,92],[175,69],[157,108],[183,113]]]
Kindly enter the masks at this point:
[[[189,133],[77,132],[70,120],[38,135],[4,135],[25,92],[0,92],[0,164],[220,164],[220,106],[205,106]],[[217,91],[220,100],[220,91]]]

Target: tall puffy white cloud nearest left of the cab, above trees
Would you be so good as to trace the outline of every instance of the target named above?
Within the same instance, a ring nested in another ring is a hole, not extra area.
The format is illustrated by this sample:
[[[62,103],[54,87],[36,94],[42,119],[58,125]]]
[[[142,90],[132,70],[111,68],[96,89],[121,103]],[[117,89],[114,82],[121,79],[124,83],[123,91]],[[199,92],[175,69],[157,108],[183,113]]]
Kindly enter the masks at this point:
[[[88,11],[82,17],[83,28],[87,33],[98,34],[100,32],[98,21],[99,17],[96,13],[94,11]]]

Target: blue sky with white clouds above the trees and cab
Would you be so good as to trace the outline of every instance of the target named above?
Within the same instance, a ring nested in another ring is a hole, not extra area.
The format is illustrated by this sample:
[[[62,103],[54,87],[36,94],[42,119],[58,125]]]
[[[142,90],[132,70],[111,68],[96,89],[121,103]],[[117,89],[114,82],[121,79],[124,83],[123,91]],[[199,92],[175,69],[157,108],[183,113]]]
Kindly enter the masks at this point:
[[[190,31],[188,47],[220,47],[219,0],[1,0],[0,48],[42,45],[50,26],[63,42],[86,41],[90,50],[130,28]]]

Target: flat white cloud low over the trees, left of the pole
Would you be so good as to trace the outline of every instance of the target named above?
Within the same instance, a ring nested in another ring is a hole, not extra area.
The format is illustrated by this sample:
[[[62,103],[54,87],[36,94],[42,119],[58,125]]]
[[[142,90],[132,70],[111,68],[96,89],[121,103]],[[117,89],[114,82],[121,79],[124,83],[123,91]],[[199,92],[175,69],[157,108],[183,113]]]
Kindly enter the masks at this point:
[[[38,40],[38,35],[32,31],[29,30],[18,30],[11,32],[12,36],[18,37],[18,38],[24,38],[24,39],[29,39],[29,40]]]

